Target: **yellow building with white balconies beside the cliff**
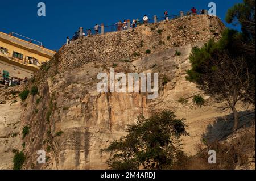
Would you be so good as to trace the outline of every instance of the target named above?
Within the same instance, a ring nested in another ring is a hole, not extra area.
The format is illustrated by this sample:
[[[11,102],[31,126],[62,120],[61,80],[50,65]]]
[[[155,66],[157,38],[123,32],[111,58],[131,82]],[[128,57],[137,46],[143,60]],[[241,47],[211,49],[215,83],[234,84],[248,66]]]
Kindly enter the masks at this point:
[[[11,77],[30,78],[56,52],[0,32],[0,81]]]

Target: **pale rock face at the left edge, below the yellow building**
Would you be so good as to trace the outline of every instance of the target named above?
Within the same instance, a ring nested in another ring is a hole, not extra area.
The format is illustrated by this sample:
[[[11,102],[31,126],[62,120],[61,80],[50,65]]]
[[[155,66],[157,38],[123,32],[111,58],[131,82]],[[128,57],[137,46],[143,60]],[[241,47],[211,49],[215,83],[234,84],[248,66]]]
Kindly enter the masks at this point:
[[[23,86],[0,90],[0,169],[13,169],[13,150],[22,149],[20,143],[20,100],[17,94]]]

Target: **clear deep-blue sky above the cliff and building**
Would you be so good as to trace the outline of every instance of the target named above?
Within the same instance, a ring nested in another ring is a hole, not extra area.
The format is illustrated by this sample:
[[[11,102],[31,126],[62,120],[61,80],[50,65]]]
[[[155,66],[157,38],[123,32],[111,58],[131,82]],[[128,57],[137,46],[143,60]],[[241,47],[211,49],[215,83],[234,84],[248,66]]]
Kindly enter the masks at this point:
[[[38,16],[38,3],[46,4],[46,16]],[[1,1],[0,31],[16,32],[32,39],[42,41],[46,48],[58,50],[71,37],[78,27],[92,28],[96,23],[113,24],[123,19],[142,19],[144,14],[149,18],[179,14],[180,10],[208,9],[208,3],[215,2],[217,16],[225,21],[226,11],[242,0],[13,0]],[[227,25],[228,27],[232,27]]]

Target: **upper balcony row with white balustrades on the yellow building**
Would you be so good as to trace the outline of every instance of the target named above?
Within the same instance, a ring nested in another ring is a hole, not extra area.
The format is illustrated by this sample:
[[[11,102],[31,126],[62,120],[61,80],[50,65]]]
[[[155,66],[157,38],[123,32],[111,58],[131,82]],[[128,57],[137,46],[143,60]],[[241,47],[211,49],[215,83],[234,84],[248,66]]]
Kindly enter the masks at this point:
[[[23,68],[31,69],[33,71],[39,70],[41,64],[35,60],[28,60],[26,58],[14,58],[10,56],[11,54],[4,49],[0,49],[0,56],[5,57],[5,61],[9,62],[10,64],[15,64],[17,66],[22,66]]]

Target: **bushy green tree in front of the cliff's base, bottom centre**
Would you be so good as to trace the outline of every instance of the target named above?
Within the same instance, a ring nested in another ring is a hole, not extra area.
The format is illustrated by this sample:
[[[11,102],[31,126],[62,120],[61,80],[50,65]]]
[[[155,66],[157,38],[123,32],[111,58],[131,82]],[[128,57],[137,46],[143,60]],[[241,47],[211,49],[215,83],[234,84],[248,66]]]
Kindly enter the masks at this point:
[[[110,153],[106,163],[110,169],[133,170],[170,169],[180,159],[187,158],[180,148],[180,136],[188,135],[184,119],[164,110],[146,119],[142,115],[127,126],[127,136],[114,141],[101,152]]]

